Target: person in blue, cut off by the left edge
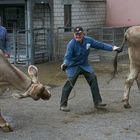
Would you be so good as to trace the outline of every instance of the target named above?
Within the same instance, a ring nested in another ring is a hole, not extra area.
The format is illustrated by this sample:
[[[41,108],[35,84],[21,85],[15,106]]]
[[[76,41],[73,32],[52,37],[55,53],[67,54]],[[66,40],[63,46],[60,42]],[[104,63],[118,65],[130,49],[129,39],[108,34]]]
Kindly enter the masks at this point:
[[[0,17],[0,49],[3,51],[5,57],[10,57],[10,44],[8,39],[8,33],[5,27],[1,25]]]

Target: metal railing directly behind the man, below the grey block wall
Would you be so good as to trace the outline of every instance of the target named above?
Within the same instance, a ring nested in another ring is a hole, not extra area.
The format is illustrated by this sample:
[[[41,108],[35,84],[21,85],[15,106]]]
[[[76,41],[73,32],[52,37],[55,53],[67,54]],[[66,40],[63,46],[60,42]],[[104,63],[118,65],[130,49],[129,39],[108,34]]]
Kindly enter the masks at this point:
[[[85,34],[93,37],[99,41],[109,43],[112,45],[120,46],[123,40],[124,32],[128,27],[95,27],[88,28],[85,30]],[[71,32],[65,32],[65,28],[57,28],[56,34],[56,47],[55,47],[55,58],[62,60],[66,51],[67,43],[73,37],[73,28]],[[114,52],[108,52],[103,50],[91,49],[89,55],[89,61],[106,61],[110,62],[114,59]],[[120,54],[119,58],[122,62],[127,63],[127,48],[125,47],[123,53]]]

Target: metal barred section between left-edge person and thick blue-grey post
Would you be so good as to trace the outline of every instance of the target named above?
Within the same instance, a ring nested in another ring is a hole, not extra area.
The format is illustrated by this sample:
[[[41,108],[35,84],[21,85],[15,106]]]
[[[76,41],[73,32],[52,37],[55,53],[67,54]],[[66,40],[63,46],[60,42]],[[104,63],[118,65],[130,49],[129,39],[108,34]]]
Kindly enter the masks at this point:
[[[11,30],[9,33],[11,57],[10,62],[14,64],[29,63],[29,46],[27,42],[27,30]]]

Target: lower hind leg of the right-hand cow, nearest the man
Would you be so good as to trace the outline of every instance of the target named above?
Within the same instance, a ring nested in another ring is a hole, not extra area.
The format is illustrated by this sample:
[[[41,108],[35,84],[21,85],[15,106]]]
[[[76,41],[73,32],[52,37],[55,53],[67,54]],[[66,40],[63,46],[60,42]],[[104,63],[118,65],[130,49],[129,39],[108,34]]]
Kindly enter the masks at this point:
[[[130,69],[131,70],[131,69]],[[130,71],[130,74],[125,82],[125,90],[124,90],[124,98],[123,101],[125,102],[124,104],[124,108],[130,108],[130,104],[129,104],[129,93],[130,93],[130,89],[133,85],[134,80],[137,78],[138,76],[138,71],[133,69]]]

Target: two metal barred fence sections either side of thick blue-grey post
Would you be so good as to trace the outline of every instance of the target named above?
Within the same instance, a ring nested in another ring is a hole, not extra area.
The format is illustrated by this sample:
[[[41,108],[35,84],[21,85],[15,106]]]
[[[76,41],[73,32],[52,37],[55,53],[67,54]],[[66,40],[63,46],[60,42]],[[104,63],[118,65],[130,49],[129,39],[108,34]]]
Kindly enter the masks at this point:
[[[9,33],[11,46],[11,63],[29,65],[30,46],[28,43],[28,30],[12,30]],[[40,63],[50,61],[50,30],[47,28],[35,28],[33,30],[34,61]]]

